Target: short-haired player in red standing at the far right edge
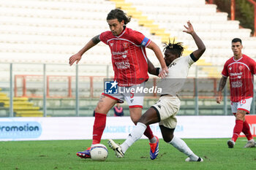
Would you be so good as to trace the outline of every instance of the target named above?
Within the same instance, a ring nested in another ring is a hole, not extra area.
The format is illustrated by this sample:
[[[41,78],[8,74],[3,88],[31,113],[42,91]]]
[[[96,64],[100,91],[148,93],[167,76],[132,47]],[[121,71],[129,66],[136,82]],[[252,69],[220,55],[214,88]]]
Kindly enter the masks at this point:
[[[236,139],[243,132],[248,139],[244,147],[255,147],[255,140],[252,138],[249,124],[245,115],[249,114],[253,98],[253,76],[256,73],[256,63],[252,58],[241,53],[243,48],[241,39],[232,40],[233,57],[226,61],[222,70],[222,78],[219,81],[217,92],[217,103],[222,101],[222,90],[225,87],[227,77],[230,79],[230,101],[233,115],[236,116],[236,125],[233,129],[233,136],[227,141],[229,148],[233,148]]]

